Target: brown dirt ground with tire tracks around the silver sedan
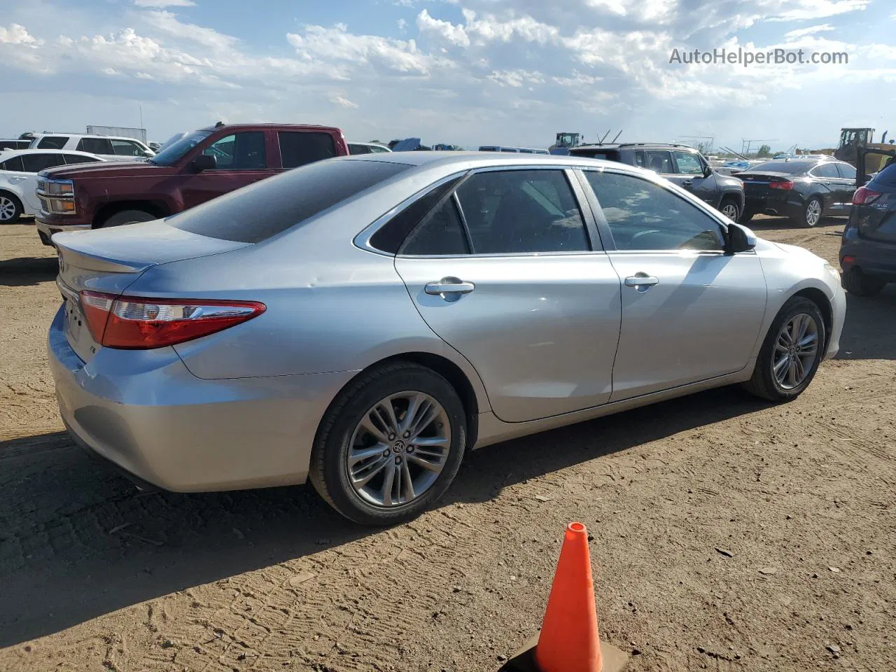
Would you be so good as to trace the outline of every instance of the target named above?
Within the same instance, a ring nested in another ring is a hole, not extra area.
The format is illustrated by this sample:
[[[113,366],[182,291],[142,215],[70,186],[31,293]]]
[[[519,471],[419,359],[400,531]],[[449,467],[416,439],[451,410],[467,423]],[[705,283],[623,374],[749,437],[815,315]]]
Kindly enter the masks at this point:
[[[842,224],[758,220],[836,263]],[[53,251],[0,228],[0,670],[491,672],[537,632],[566,521],[636,670],[896,669],[896,289],[849,297],[797,401],[736,389],[492,446],[359,529],[311,488],[140,494],[62,432]]]

